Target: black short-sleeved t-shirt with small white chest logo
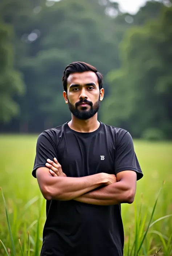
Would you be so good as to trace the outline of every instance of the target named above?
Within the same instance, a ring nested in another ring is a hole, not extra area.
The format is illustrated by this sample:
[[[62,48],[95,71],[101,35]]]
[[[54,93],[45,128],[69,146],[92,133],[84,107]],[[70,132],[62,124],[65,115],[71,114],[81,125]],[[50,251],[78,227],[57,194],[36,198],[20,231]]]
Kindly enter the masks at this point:
[[[68,177],[132,170],[143,174],[128,131],[100,122],[96,131],[81,133],[64,125],[43,131],[37,140],[36,169],[57,158]],[[42,256],[122,256],[124,231],[121,207],[75,200],[46,201]]]

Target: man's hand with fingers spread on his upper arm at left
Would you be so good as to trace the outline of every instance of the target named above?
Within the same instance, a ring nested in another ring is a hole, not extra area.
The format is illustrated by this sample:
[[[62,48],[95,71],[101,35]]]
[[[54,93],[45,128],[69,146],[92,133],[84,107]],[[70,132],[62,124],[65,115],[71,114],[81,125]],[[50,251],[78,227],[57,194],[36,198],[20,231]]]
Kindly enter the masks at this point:
[[[47,162],[45,165],[48,167],[50,170],[50,174],[52,176],[61,176],[61,177],[66,177],[66,174],[62,171],[61,164],[57,161],[56,158],[53,159],[54,162],[50,159],[47,159]]]

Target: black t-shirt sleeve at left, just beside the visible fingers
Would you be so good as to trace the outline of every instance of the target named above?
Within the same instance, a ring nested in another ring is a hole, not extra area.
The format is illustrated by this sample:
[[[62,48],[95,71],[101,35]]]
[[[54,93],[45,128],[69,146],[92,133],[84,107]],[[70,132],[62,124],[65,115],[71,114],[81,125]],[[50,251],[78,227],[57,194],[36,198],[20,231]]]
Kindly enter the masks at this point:
[[[57,143],[56,137],[51,130],[43,131],[37,139],[36,143],[36,157],[34,160],[34,166],[32,175],[36,178],[36,169],[38,167],[46,167],[46,160],[49,158],[57,158]]]

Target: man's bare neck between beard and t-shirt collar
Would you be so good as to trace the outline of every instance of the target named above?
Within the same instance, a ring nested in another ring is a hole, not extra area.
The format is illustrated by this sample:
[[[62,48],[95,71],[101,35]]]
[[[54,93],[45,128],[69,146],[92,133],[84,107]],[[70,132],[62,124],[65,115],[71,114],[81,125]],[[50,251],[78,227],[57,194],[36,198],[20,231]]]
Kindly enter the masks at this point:
[[[100,122],[97,120],[97,114],[87,120],[81,120],[72,115],[72,119],[68,125],[70,129],[74,131],[78,131],[80,133],[91,133],[99,128]]]

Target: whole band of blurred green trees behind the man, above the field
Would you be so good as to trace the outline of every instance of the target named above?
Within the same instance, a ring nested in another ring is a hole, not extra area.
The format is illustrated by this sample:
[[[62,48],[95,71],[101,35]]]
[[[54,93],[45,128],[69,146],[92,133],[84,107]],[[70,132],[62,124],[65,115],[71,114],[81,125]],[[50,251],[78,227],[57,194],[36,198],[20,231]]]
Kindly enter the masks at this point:
[[[11,120],[1,131],[41,132],[68,121],[61,78],[66,65],[85,61],[104,76],[102,121],[136,137],[155,130],[169,137],[171,8],[163,2],[149,1],[130,15],[110,0],[1,0],[1,27],[13,31],[0,37],[0,50],[8,49],[0,56],[8,60],[0,73],[1,123]]]

